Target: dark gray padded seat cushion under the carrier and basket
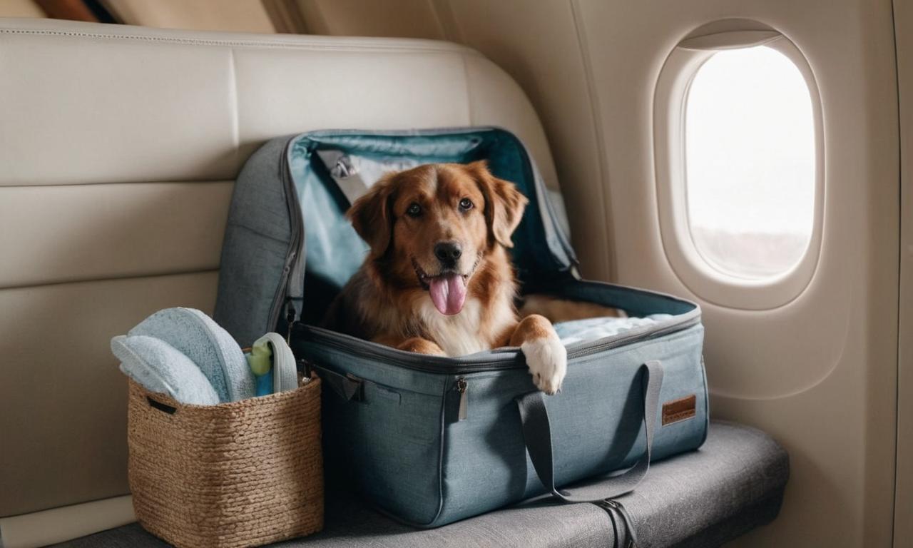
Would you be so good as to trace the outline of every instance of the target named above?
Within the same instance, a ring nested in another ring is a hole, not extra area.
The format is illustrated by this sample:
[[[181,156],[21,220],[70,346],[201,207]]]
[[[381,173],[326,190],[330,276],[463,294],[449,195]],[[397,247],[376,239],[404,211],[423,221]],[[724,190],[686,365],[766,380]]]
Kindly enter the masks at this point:
[[[786,452],[763,432],[713,422],[697,451],[656,462],[635,492],[617,501],[631,516],[640,548],[708,547],[771,522],[789,477]],[[278,546],[453,548],[624,546],[624,521],[595,504],[540,498],[432,530],[384,517],[351,495],[328,493],[323,532]],[[132,523],[58,546],[160,547]]]

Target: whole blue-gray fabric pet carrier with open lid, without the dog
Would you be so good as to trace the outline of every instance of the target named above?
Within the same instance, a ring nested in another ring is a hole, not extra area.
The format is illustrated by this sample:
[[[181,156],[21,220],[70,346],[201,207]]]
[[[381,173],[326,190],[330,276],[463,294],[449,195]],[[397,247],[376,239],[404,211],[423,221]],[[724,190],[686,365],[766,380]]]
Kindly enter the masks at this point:
[[[523,354],[407,353],[315,325],[367,246],[345,218],[383,173],[488,160],[530,199],[512,260],[524,290],[588,300],[652,325],[568,346],[561,394],[532,384]],[[551,493],[624,515],[651,461],[698,448],[708,394],[698,305],[585,281],[522,142],[498,128],[309,132],[247,161],[232,199],[215,321],[247,345],[289,332],[324,385],[325,462],[395,518],[437,527]],[[611,480],[605,476],[611,474]],[[586,479],[601,479],[588,486]],[[332,483],[331,483],[332,485]]]

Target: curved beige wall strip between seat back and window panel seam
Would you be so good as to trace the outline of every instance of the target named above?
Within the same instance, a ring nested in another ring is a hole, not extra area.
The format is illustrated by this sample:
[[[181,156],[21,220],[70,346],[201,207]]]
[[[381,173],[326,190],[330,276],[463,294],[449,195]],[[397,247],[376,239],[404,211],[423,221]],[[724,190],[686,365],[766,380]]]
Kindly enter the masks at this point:
[[[530,97],[555,160],[582,273],[612,279],[612,246],[605,222],[601,128],[596,124],[571,5],[567,2],[394,0],[387,12],[371,0],[299,0],[309,29],[332,36],[408,36],[474,47],[504,68]],[[364,9],[370,16],[364,16]],[[415,22],[405,28],[400,22]],[[420,23],[418,23],[420,22]],[[595,195],[591,193],[597,193]]]

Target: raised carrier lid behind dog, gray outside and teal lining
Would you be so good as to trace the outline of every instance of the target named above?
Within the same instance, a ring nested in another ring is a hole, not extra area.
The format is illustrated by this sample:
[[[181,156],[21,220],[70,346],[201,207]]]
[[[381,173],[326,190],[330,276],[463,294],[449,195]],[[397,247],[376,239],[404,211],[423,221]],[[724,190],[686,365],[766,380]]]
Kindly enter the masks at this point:
[[[530,200],[510,249],[524,289],[570,278],[577,259],[535,163],[512,133],[307,132],[268,142],[238,174],[215,321],[242,345],[264,332],[285,332],[297,311],[302,321],[320,323],[368,249],[345,216],[352,201],[390,172],[477,160]]]

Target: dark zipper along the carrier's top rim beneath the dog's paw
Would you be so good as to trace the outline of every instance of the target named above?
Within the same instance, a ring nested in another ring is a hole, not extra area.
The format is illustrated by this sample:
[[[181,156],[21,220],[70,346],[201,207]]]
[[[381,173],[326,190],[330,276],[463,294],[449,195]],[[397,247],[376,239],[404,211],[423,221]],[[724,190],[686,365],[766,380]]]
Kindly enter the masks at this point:
[[[684,331],[689,327],[698,325],[698,323],[700,323],[699,314],[689,316],[682,321],[677,321],[656,331],[607,337],[600,341],[583,345],[580,348],[574,348],[568,353],[568,359],[582,358],[594,353],[600,353],[619,346],[624,346],[625,344],[648,341],[650,339],[665,336],[669,333]],[[469,374],[483,371],[523,369],[526,367],[526,364],[519,359],[519,349],[517,348],[506,348],[494,351],[494,356],[484,360],[447,358],[408,353],[402,350],[396,350],[390,346],[384,346],[377,342],[364,341],[350,335],[331,332],[320,327],[299,324],[298,328],[304,335],[302,338],[299,338],[299,344],[315,342],[320,345],[330,346],[348,354],[426,373]]]

